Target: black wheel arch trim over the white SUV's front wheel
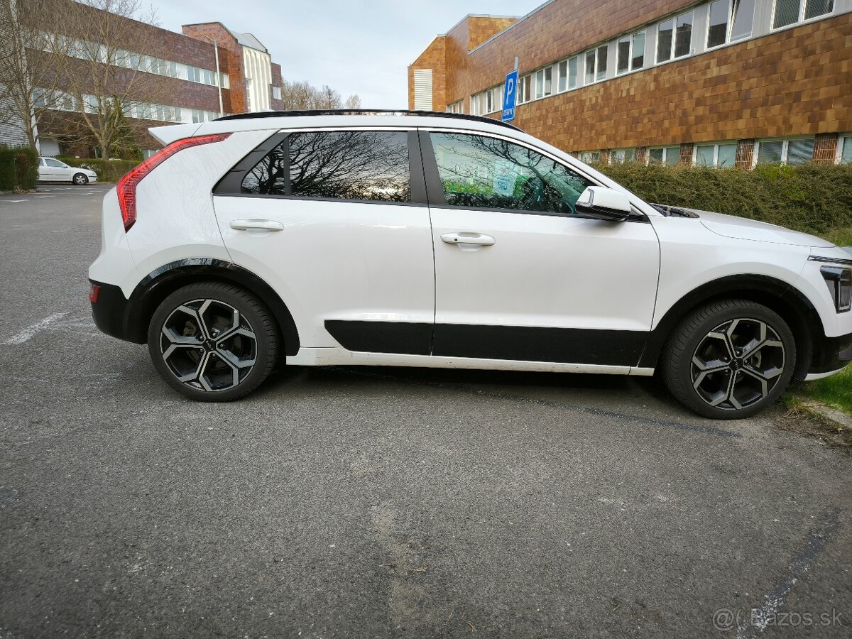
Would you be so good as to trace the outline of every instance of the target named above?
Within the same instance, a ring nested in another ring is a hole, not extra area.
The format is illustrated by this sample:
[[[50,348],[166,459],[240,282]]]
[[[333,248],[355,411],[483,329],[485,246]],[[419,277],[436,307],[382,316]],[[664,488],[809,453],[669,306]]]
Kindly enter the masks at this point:
[[[769,275],[743,273],[714,279],[682,296],[669,308],[656,328],[639,360],[640,367],[657,366],[659,354],[671,331],[690,310],[722,297],[743,297],[763,303],[786,320],[797,337],[797,362],[793,376],[797,379],[811,372],[812,364],[825,356],[826,332],[814,304],[795,286]],[[791,313],[792,311],[792,313]]]

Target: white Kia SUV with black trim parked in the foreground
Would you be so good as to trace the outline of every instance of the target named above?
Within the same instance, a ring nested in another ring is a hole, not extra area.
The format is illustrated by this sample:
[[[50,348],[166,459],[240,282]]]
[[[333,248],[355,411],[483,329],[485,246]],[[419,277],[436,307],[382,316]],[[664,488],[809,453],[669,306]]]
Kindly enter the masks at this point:
[[[277,362],[652,375],[707,417],[852,360],[852,256],[648,204],[508,124],[270,112],[152,130],[107,194],[101,331],[234,400]]]

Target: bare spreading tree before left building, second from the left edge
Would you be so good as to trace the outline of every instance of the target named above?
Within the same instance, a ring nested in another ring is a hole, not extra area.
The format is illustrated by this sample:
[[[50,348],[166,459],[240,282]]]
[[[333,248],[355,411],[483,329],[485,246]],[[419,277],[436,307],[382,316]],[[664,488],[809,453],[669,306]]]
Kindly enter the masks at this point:
[[[101,158],[132,140],[143,120],[169,119],[161,112],[164,60],[140,55],[145,33],[134,20],[156,24],[139,0],[77,0],[63,5],[50,30],[49,58],[60,74],[56,93],[66,101],[54,112],[67,135],[88,138]],[[100,9],[100,10],[99,10]],[[156,112],[155,112],[156,111]]]

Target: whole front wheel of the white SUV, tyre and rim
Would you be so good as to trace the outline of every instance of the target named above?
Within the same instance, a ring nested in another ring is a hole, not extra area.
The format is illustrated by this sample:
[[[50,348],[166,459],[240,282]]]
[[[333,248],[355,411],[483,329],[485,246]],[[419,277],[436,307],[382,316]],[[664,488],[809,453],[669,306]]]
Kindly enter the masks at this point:
[[[660,356],[666,387],[704,417],[741,419],[770,406],[796,366],[796,342],[780,315],[749,300],[697,308]]]

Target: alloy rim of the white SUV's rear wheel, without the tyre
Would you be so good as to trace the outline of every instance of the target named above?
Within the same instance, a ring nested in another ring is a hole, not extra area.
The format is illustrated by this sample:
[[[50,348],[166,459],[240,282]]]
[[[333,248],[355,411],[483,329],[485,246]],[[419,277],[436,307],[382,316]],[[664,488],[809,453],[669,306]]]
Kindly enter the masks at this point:
[[[160,353],[177,381],[216,392],[233,389],[255,366],[257,339],[245,315],[220,300],[175,308],[160,331]]]

